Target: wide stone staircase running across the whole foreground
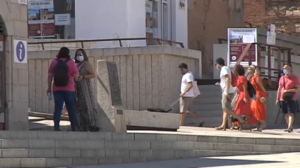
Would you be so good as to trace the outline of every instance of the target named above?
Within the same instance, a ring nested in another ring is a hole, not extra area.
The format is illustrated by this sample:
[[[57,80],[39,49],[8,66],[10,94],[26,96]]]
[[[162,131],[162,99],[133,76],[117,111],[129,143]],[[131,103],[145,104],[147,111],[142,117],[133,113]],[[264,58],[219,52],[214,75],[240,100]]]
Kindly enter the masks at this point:
[[[71,167],[299,152],[299,139],[72,131],[0,131],[0,167]],[[287,146],[287,144],[289,146]]]

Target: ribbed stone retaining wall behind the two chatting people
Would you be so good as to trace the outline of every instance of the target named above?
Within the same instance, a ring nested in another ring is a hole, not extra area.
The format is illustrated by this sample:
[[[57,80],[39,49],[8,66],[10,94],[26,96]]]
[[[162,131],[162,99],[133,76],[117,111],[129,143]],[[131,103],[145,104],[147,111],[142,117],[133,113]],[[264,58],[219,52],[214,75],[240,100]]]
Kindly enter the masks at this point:
[[[71,56],[74,56],[75,51],[71,49]],[[85,51],[94,67],[99,59],[116,61],[121,98],[124,108],[128,110],[169,108],[169,104],[179,98],[179,63],[187,63],[195,77],[201,77],[200,51],[174,46],[119,47]],[[58,50],[48,50],[28,53],[29,106],[32,111],[54,112],[54,102],[48,101],[46,90],[48,67],[57,52]],[[92,84],[94,87],[95,79],[92,79]]]

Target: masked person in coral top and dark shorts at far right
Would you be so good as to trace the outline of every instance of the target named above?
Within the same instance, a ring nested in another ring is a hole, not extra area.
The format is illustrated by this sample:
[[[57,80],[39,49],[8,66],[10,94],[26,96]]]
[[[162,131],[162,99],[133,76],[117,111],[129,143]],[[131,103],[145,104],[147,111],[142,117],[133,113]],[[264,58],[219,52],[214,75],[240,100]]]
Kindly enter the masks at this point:
[[[284,118],[287,122],[287,129],[284,131],[293,131],[294,112],[297,111],[296,92],[299,91],[299,79],[292,74],[292,65],[283,66],[284,76],[280,78],[277,90],[276,105],[280,105]]]

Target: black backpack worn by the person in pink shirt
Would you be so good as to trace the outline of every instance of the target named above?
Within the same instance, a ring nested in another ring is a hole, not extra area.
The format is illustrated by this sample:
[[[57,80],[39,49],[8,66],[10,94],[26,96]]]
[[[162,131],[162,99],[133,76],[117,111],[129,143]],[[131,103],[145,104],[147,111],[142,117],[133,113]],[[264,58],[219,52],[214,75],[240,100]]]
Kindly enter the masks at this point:
[[[54,67],[54,85],[68,86],[68,61],[71,59],[56,59],[57,64]]]

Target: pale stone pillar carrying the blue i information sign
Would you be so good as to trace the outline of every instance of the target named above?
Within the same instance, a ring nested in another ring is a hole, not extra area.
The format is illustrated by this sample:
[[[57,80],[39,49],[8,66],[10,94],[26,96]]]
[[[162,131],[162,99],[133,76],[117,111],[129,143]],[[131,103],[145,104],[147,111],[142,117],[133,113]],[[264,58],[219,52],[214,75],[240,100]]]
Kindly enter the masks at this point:
[[[13,43],[15,39],[27,41],[28,8],[15,0],[0,1],[0,15],[6,35],[6,129],[28,130],[28,64],[14,63]],[[27,48],[22,52],[27,54]]]

